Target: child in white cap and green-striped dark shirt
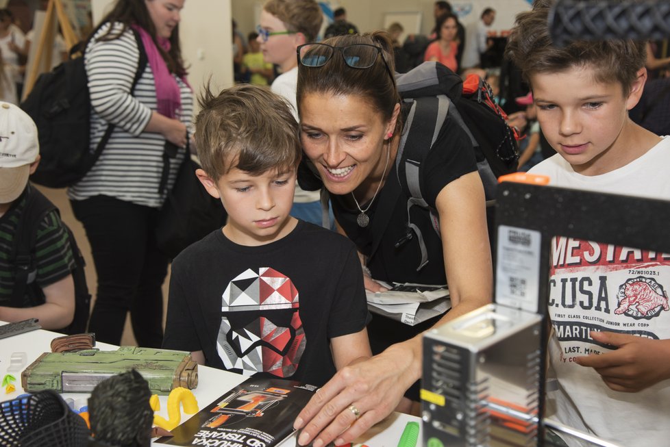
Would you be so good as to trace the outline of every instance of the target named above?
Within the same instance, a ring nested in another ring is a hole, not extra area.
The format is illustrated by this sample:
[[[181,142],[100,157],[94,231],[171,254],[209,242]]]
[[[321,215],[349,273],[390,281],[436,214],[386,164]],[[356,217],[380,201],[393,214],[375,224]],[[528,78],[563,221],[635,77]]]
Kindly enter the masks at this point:
[[[34,245],[34,283],[14,296],[16,260],[14,236],[30,197],[40,194],[28,181],[39,162],[37,127],[16,105],[0,102],[0,320],[16,322],[38,318],[44,329],[61,329],[73,319],[75,259],[64,224],[53,209],[39,222]],[[32,280],[32,278],[29,278]]]

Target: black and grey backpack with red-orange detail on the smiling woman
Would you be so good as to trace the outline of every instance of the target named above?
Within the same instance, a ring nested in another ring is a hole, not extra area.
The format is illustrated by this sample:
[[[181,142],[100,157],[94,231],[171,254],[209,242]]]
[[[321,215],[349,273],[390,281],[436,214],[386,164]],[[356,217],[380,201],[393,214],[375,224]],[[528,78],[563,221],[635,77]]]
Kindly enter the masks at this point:
[[[397,75],[396,81],[405,120],[395,162],[401,190],[408,197],[408,229],[416,233],[423,253],[420,269],[428,259],[423,235],[410,221],[409,209],[414,205],[428,209],[433,229],[441,235],[438,214],[423,199],[419,179],[421,164],[445,120],[455,120],[472,143],[477,171],[484,184],[492,241],[495,235],[491,232],[491,210],[495,205],[497,177],[517,171],[519,134],[507,125],[506,113],[493,101],[491,86],[477,75],[470,75],[464,83],[443,64],[423,62],[408,73]]]

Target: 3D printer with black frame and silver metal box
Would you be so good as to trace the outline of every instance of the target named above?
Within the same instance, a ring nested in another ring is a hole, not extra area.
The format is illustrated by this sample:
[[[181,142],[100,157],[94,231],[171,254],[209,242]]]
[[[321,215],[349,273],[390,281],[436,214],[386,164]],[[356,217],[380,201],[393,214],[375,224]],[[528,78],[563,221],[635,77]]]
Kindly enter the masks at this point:
[[[495,304],[424,337],[424,445],[564,445],[547,439],[551,427],[575,444],[615,446],[545,419],[549,241],[670,253],[670,202],[506,182],[496,206]]]

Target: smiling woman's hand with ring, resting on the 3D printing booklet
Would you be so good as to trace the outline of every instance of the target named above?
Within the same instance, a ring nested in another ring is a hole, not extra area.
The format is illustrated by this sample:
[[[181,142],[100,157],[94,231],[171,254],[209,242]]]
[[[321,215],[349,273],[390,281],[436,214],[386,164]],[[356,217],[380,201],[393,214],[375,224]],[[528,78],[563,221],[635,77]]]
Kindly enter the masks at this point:
[[[393,412],[421,376],[421,338],[390,346],[380,355],[346,366],[300,412],[298,444],[346,444]],[[352,409],[358,410],[357,417]]]

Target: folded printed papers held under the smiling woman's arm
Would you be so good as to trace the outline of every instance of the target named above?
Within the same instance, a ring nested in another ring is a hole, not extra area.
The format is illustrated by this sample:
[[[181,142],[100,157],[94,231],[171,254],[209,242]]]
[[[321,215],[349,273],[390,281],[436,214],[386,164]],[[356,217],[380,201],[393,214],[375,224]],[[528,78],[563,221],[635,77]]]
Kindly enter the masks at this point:
[[[377,282],[388,292],[366,292],[368,309],[373,314],[414,326],[451,309],[446,285]]]

